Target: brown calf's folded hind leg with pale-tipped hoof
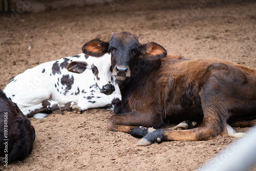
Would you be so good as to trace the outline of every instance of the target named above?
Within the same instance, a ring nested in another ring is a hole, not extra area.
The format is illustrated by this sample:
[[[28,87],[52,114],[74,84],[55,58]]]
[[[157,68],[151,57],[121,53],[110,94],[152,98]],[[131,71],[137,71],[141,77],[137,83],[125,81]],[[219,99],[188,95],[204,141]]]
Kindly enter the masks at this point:
[[[200,141],[228,137],[227,112],[221,108],[221,105],[215,104],[217,106],[209,106],[205,103],[202,105],[204,119],[199,127],[190,130],[159,129],[144,136],[137,145],[145,146],[162,141]]]

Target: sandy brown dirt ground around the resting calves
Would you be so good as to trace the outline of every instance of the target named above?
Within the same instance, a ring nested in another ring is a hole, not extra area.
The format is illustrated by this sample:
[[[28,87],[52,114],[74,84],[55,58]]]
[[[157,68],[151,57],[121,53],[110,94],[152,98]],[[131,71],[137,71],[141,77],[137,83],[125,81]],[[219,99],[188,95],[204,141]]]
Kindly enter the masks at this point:
[[[221,59],[256,69],[256,3],[252,1],[112,1],[43,13],[0,14],[0,28],[2,89],[26,69],[79,54],[87,41],[108,41],[112,32],[119,31],[138,34],[141,43],[155,41],[169,54]],[[106,129],[113,114],[90,109],[30,118],[36,131],[32,153],[0,169],[195,170],[237,140],[136,146],[139,139]]]

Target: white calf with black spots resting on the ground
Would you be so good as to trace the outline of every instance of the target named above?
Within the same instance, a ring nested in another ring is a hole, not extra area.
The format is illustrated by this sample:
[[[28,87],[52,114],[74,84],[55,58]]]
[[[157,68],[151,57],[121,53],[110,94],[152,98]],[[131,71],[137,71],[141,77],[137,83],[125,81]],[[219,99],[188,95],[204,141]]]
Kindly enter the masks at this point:
[[[113,109],[121,99],[112,76],[111,55],[84,53],[41,63],[14,77],[4,92],[26,116],[44,118],[51,111]]]

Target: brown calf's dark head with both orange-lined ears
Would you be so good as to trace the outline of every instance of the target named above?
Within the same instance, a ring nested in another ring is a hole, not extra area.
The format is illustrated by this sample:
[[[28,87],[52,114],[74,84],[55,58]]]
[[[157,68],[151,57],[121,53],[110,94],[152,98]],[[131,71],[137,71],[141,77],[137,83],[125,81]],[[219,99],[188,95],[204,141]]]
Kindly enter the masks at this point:
[[[159,60],[167,55],[166,50],[155,42],[140,44],[138,35],[129,32],[112,33],[109,42],[102,43],[99,39],[90,41],[83,51],[86,55],[111,53],[112,74],[119,80],[131,77],[140,59],[147,61]]]

